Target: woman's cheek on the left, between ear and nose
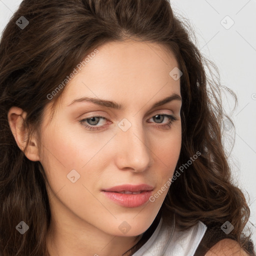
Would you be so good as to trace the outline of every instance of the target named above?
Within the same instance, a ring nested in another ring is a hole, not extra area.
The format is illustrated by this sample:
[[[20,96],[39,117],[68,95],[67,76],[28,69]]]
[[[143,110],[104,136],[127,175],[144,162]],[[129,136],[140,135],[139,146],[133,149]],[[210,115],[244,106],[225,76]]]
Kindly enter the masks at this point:
[[[40,162],[52,190],[58,191],[63,185],[69,187],[74,184],[72,181],[92,186],[100,177],[104,157],[109,155],[104,145],[112,135],[90,135],[78,124],[62,121],[61,125],[56,125],[58,123],[55,122],[42,136],[40,152]]]

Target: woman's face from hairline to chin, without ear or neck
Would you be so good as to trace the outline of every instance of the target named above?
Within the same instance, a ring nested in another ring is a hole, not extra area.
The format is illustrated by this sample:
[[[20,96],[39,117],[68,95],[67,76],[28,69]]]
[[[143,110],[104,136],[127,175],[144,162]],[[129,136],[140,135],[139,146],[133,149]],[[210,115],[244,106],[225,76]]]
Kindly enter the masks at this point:
[[[109,42],[97,49],[64,88],[49,123],[52,102],[46,106],[40,162],[56,220],[135,236],[154,220],[178,160],[180,84],[169,74],[178,65],[156,43]]]

